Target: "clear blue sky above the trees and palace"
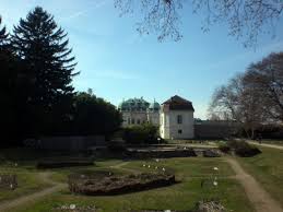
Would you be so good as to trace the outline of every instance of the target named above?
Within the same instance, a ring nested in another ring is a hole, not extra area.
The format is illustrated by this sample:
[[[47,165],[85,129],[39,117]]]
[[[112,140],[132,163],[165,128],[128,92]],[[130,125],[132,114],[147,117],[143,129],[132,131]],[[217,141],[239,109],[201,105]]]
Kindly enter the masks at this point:
[[[135,31],[137,13],[120,17],[114,0],[0,0],[2,23],[11,31],[36,5],[68,32],[81,72],[73,79],[75,90],[92,89],[114,105],[130,97],[163,103],[179,95],[192,102],[194,117],[205,119],[215,87],[283,47],[282,28],[275,38],[259,37],[256,48],[227,36],[225,23],[203,33],[202,17],[186,7],[180,11],[182,39],[161,43],[155,34]]]

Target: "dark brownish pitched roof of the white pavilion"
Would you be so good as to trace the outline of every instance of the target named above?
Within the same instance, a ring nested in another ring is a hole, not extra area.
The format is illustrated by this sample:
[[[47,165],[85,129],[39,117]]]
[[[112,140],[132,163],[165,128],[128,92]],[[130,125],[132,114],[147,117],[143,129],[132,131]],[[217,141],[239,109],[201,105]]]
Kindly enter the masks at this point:
[[[170,110],[192,110],[192,111],[194,111],[192,103],[178,95],[172,96],[169,99],[164,102],[162,105],[165,108],[168,108]]]

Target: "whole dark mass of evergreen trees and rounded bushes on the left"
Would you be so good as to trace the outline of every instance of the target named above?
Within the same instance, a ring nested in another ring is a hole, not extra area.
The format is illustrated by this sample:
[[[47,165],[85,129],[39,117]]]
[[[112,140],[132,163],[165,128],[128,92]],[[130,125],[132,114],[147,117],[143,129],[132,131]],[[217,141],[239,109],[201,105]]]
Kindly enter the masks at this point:
[[[107,136],[119,128],[115,106],[91,93],[73,92],[76,63],[68,34],[51,14],[36,7],[12,34],[1,21],[0,145],[43,136]]]

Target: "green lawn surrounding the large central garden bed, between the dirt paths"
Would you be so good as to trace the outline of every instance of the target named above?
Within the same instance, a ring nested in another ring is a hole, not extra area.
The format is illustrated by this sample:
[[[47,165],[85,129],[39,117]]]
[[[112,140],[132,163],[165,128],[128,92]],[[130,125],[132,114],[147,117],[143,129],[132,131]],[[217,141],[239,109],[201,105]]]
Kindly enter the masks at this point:
[[[119,166],[119,164],[123,164]],[[151,168],[143,167],[143,164],[151,165]],[[114,166],[114,168],[110,168]],[[165,167],[166,170],[175,172],[180,181],[170,187],[158,188],[142,192],[133,192],[122,196],[110,197],[85,197],[72,195],[63,190],[52,196],[46,197],[34,204],[22,205],[13,212],[50,212],[57,205],[71,204],[76,205],[96,205],[101,211],[125,212],[129,210],[141,209],[175,209],[190,210],[196,202],[202,199],[216,198],[229,210],[234,212],[252,212],[245,191],[241,186],[228,176],[234,175],[229,166],[222,158],[169,158],[161,160],[158,163],[150,161],[122,162],[118,160],[99,161],[95,166],[85,168],[55,169],[54,178],[63,181],[69,173],[72,172],[95,172],[107,169],[110,172],[131,173],[131,172],[155,172],[155,166]],[[213,167],[220,168],[219,174]],[[219,186],[212,186],[211,178],[217,175]],[[207,182],[201,187],[201,181]]]

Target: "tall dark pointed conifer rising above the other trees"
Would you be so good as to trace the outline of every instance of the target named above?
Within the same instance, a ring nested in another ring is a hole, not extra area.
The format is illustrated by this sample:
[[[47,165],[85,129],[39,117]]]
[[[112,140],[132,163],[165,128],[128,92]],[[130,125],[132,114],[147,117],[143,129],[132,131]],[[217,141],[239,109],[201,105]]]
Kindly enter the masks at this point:
[[[19,73],[22,89],[20,119],[25,137],[54,134],[52,126],[69,113],[73,95],[74,57],[67,33],[54,16],[36,7],[14,27],[12,47],[24,69]]]

